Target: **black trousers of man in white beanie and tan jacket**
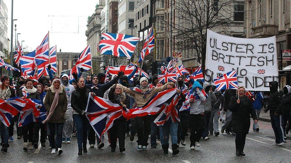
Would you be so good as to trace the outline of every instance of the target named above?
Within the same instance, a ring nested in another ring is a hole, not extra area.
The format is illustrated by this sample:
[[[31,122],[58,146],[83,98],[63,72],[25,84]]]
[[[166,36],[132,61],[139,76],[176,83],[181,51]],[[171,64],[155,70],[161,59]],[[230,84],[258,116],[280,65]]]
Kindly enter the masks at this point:
[[[151,116],[134,118],[137,128],[137,145],[147,146],[148,135],[151,133]]]

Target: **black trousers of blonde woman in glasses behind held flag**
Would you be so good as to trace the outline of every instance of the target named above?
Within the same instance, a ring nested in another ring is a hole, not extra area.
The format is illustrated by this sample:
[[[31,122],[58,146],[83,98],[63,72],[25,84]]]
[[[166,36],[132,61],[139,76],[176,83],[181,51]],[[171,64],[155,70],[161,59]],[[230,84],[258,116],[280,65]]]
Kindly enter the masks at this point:
[[[118,138],[119,148],[125,146],[125,134],[126,134],[126,120],[116,119],[113,122],[113,126],[109,129],[110,146],[116,147],[116,137]]]

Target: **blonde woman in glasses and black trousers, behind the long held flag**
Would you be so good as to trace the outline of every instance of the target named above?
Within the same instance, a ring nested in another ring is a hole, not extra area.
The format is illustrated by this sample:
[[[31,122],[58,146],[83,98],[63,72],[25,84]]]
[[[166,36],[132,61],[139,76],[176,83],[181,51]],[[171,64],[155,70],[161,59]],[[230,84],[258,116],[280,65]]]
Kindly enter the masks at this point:
[[[121,84],[114,84],[108,94],[108,99],[114,103],[119,104],[123,108],[129,108],[129,98],[123,95]],[[123,116],[115,119],[113,126],[109,129],[111,151],[114,152],[116,148],[116,137],[118,137],[119,151],[125,151],[125,134],[126,134],[126,119]]]

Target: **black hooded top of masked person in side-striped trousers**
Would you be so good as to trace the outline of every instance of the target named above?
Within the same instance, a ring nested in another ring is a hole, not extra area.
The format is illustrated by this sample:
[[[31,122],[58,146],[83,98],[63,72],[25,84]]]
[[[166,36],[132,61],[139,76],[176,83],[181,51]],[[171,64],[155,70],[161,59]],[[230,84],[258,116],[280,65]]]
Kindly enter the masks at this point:
[[[269,82],[270,85],[270,101],[269,105],[264,109],[264,111],[270,110],[270,116],[275,115],[282,115],[283,110],[281,107],[282,103],[282,93],[278,91],[278,82],[271,81]]]

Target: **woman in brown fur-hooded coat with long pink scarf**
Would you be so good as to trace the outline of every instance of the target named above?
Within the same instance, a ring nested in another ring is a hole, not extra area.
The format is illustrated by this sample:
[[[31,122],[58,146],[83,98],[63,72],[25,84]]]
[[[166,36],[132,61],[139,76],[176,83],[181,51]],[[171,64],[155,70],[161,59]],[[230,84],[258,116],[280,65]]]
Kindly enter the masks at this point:
[[[59,78],[52,80],[52,86],[47,88],[44,106],[47,109],[47,118],[42,123],[48,122],[50,145],[52,147],[51,153],[54,154],[55,151],[58,150],[58,155],[60,155],[63,153],[62,131],[64,122],[66,121],[65,112],[68,102],[65,88],[61,86],[61,80]],[[57,133],[57,139],[55,139],[55,133]]]

